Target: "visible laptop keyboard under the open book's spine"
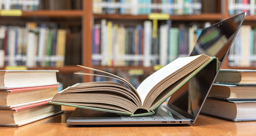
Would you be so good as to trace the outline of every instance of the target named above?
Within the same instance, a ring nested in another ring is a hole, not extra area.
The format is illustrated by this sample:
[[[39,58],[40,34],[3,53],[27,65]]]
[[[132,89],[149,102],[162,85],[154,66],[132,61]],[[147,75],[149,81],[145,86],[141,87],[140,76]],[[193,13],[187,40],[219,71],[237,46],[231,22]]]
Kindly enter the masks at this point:
[[[130,117],[130,116],[122,116],[121,115],[121,120],[174,120],[174,119],[181,119],[178,116],[176,116],[173,113],[172,116],[170,116],[168,113],[166,113],[162,109],[158,109],[158,114],[156,116],[151,116],[151,117]]]

